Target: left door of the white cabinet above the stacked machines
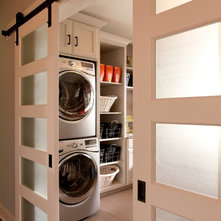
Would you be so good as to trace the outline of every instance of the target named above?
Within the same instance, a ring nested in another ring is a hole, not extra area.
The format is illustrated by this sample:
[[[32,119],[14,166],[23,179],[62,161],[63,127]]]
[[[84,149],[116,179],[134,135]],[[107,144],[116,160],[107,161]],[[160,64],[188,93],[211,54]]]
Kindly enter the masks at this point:
[[[60,23],[60,53],[71,54],[72,41],[71,21],[67,19]]]

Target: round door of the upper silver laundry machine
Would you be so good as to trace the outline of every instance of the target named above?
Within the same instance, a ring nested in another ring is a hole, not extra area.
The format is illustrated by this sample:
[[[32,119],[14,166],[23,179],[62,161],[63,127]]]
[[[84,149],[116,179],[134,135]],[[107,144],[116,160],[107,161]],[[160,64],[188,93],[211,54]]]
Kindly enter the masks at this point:
[[[59,116],[78,121],[87,116],[94,103],[94,91],[86,75],[80,71],[62,71],[59,76]]]

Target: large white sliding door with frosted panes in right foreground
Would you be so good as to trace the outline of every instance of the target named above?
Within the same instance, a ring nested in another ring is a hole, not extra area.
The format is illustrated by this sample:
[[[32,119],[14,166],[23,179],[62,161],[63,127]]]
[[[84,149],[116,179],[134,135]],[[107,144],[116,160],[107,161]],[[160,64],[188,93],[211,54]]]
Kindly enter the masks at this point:
[[[221,1],[134,1],[134,221],[221,220]]]

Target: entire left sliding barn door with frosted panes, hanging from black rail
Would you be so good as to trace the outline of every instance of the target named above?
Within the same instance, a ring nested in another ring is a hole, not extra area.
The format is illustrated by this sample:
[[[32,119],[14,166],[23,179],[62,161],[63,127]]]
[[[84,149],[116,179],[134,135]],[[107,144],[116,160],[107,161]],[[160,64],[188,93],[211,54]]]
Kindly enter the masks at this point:
[[[19,28],[15,47],[16,221],[58,221],[58,3]]]

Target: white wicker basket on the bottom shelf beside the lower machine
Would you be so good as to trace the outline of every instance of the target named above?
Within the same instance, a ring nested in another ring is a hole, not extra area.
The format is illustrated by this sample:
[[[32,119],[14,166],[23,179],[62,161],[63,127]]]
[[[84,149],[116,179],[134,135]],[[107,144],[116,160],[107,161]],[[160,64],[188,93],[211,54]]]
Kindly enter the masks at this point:
[[[100,187],[110,186],[119,173],[120,169],[116,165],[108,165],[100,168]]]

